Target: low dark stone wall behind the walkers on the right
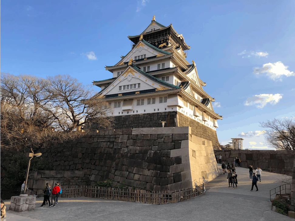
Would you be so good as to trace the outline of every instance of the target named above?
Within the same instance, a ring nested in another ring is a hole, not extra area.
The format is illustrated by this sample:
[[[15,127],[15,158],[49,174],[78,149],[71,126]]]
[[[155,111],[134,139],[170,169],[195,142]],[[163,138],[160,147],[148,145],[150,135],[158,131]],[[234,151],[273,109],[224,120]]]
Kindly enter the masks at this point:
[[[232,164],[235,157],[241,159],[241,167],[261,168],[263,171],[292,176],[294,158],[287,150],[214,150],[222,161]]]

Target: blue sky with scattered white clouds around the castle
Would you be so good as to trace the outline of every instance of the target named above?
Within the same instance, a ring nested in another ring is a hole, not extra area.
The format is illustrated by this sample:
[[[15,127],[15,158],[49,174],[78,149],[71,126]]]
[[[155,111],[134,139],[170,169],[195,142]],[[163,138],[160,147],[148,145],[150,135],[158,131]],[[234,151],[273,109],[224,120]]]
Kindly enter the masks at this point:
[[[295,1],[2,1],[1,72],[112,78],[104,67],[154,15],[191,47],[187,60],[223,116],[219,142],[273,150],[259,122],[295,117]]]

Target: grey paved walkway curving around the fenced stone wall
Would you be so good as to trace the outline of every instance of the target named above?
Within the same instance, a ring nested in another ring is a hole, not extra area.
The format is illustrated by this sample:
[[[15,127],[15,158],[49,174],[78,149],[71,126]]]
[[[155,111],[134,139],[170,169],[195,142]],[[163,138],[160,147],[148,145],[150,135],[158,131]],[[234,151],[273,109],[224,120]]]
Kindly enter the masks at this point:
[[[218,164],[221,168],[220,164]],[[259,191],[251,192],[249,170],[237,168],[238,188],[228,187],[227,174],[206,184],[204,195],[184,202],[151,205],[136,202],[95,198],[60,198],[56,207],[39,208],[43,199],[37,198],[36,208],[28,212],[11,212],[6,204],[6,220],[73,221],[73,220],[226,220],[226,221],[291,221],[271,210],[269,191],[281,185],[286,175],[263,172]],[[255,187],[254,187],[255,188]]]

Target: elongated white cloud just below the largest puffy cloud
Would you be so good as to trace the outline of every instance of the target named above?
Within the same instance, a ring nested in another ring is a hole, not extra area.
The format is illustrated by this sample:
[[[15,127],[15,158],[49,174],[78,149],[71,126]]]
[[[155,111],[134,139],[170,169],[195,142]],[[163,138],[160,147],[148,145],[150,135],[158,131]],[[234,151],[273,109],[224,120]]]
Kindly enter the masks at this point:
[[[245,105],[256,105],[258,108],[263,108],[267,103],[275,105],[280,101],[283,94],[260,94],[247,98]]]

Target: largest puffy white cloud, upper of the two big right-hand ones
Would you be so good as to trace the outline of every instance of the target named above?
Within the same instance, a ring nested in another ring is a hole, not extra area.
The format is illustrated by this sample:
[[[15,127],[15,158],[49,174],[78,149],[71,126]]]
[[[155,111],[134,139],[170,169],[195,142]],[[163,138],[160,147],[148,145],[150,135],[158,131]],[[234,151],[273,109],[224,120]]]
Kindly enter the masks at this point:
[[[295,75],[293,71],[290,72],[287,68],[288,66],[285,66],[281,61],[278,61],[276,63],[267,63],[263,64],[262,67],[254,68],[253,74],[266,74],[266,76],[269,76],[273,80],[279,78],[280,81],[282,81],[281,78],[283,76],[290,77]]]

